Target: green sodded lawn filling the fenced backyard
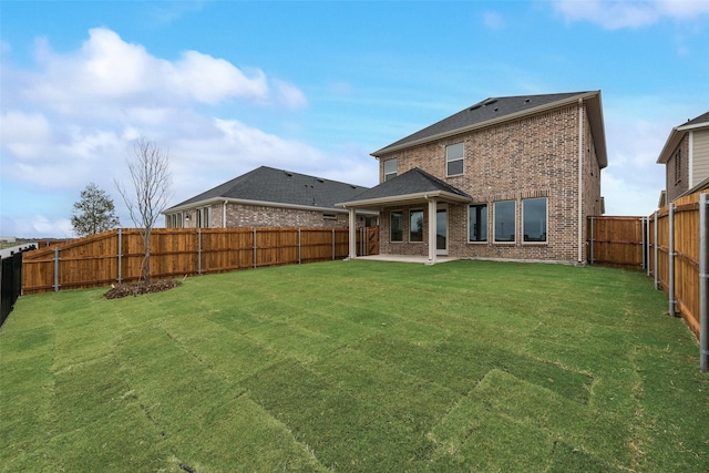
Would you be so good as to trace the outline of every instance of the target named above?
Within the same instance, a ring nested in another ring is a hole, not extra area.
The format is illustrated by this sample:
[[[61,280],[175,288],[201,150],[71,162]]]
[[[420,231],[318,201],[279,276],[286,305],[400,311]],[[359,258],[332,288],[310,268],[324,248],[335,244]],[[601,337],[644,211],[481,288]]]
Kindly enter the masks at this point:
[[[709,470],[709,376],[639,271],[332,261],[0,331],[2,471]]]

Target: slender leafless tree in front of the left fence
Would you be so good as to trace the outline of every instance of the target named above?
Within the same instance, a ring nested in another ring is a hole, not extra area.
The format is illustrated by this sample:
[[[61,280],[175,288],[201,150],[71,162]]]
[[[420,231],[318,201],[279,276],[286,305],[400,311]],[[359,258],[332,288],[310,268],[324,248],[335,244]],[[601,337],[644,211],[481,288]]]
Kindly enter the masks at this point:
[[[151,282],[151,235],[162,210],[172,197],[172,178],[168,169],[168,153],[145,136],[133,144],[133,160],[126,160],[133,192],[115,181],[115,186],[125,202],[131,219],[143,237],[143,276]]]

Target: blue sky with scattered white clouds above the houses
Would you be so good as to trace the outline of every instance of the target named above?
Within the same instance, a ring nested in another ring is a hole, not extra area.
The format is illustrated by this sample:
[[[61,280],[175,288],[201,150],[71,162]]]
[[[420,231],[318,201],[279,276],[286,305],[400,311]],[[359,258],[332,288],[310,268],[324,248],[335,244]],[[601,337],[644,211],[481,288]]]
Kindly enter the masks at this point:
[[[132,143],[172,204],[260,165],[373,186],[369,154],[490,96],[600,90],[608,215],[649,215],[709,110],[709,0],[0,2],[0,235],[71,237]],[[161,222],[162,225],[162,222]]]

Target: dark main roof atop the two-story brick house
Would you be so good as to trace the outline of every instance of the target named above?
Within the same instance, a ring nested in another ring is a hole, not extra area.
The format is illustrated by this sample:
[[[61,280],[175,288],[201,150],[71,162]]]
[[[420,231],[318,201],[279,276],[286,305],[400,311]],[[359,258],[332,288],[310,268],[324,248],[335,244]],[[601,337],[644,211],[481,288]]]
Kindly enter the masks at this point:
[[[398,148],[409,143],[417,143],[433,136],[454,132],[455,130],[465,128],[476,124],[512,115],[526,110],[538,106],[553,104],[554,102],[564,101],[577,95],[588,94],[589,92],[568,92],[544,95],[516,95],[504,97],[490,97],[482,102],[477,102],[446,119],[441,120],[423,130],[420,130],[404,138],[401,138],[383,148],[372,153],[379,156],[390,150]]]

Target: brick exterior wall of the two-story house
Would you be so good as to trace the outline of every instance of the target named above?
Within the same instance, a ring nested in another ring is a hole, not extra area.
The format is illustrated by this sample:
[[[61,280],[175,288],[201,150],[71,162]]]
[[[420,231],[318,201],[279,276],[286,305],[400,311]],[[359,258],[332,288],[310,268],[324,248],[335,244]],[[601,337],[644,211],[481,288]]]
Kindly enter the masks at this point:
[[[579,188],[579,112],[583,113],[583,168]],[[464,143],[462,175],[446,177],[445,147]],[[586,258],[586,217],[600,214],[600,169],[585,107],[572,105],[505,122],[453,137],[380,156],[397,158],[397,173],[413,167],[466,192],[474,203],[487,204],[487,243],[467,243],[467,205],[448,205],[449,255],[583,263]],[[522,200],[547,198],[547,241],[522,241]],[[580,228],[578,198],[583,198]],[[494,243],[494,206],[516,203],[516,241]],[[424,243],[407,243],[409,210],[424,210]],[[404,243],[390,241],[390,213],[404,210]],[[380,217],[382,254],[428,255],[428,206],[392,206]],[[580,232],[580,246],[579,246]],[[580,261],[579,261],[580,257]]]

